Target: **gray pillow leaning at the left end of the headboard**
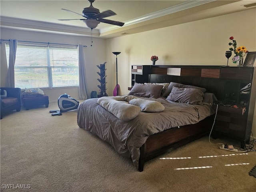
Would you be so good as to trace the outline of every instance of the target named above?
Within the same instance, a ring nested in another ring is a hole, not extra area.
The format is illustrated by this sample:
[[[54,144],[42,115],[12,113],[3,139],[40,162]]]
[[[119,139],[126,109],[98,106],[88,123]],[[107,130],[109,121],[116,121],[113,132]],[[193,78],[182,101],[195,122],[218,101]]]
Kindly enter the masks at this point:
[[[130,90],[129,95],[158,98],[161,94],[162,88],[162,85],[135,83]]]

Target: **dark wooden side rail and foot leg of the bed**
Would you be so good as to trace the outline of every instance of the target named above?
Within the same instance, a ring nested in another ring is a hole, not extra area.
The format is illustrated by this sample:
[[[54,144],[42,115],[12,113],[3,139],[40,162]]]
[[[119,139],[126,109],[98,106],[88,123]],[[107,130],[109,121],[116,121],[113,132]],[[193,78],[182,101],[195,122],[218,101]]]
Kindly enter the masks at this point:
[[[143,171],[144,162],[209,134],[213,121],[214,115],[197,124],[175,127],[149,136],[140,147],[138,170]]]

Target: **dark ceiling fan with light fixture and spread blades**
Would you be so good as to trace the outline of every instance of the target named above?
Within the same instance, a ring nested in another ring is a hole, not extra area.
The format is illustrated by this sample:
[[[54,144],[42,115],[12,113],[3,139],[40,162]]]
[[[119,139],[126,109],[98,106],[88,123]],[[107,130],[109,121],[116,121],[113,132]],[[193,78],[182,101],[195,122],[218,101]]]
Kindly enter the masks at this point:
[[[91,5],[89,7],[84,8],[82,14],[79,14],[79,13],[76,13],[76,12],[73,12],[73,11],[70,11],[67,9],[62,9],[62,10],[68,11],[68,12],[78,14],[78,15],[84,17],[83,19],[58,19],[58,20],[60,20],[60,21],[82,20],[91,30],[96,28],[100,22],[108,23],[108,24],[112,24],[112,25],[118,25],[118,26],[124,25],[123,22],[104,19],[106,17],[116,15],[116,13],[113,12],[112,10],[106,10],[104,12],[100,12],[100,10],[98,10],[97,8],[94,8],[92,6],[92,3],[95,0],[88,0],[88,1],[91,3]]]

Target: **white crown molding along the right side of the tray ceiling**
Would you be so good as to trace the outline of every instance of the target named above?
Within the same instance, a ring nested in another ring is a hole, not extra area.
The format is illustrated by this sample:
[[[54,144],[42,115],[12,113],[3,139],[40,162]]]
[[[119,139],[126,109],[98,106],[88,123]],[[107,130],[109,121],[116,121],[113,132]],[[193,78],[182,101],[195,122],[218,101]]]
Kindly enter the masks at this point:
[[[172,14],[172,13],[175,13],[175,12],[179,12],[179,11],[182,11],[182,10],[186,10],[186,9],[189,9],[189,8],[200,6],[202,4],[206,4],[206,3],[209,3],[209,2],[213,2],[213,1],[215,1],[215,0],[198,0],[198,1],[184,2],[184,3],[178,4],[176,6],[172,6],[172,7],[160,10],[160,11],[156,11],[156,12],[153,12],[153,13],[150,13],[150,14],[146,14],[142,17],[138,17],[138,18],[135,18],[133,20],[126,21],[126,22],[124,22],[124,26],[137,24],[137,23],[140,23],[140,22],[144,22],[146,20],[158,18],[158,17],[161,17],[161,16],[165,16],[165,15]],[[100,31],[100,34],[101,34],[101,33],[108,32],[110,30],[114,30],[114,29],[117,29],[117,28],[120,28],[120,26],[109,26],[109,27],[106,27],[106,28],[102,28],[99,31]]]

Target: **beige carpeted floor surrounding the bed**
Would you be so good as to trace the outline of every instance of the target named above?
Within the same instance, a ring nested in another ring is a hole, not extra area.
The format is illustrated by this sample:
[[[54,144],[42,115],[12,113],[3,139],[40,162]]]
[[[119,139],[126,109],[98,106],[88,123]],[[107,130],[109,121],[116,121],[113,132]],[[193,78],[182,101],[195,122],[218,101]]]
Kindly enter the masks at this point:
[[[51,116],[53,109],[56,103],[12,112],[0,121],[1,192],[256,191],[256,178],[248,174],[256,152],[220,150],[206,136],[146,162],[138,172],[132,160],[79,128],[76,110]]]

